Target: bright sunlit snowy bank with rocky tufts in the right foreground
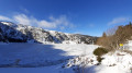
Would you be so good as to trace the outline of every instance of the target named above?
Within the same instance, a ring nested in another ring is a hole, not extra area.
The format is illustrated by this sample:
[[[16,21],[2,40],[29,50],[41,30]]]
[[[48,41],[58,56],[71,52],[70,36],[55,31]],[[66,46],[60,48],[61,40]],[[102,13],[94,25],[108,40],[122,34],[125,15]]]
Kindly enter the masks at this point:
[[[132,73],[132,56],[116,51],[105,54],[101,64],[95,56],[82,56],[70,59],[65,65],[76,73]]]

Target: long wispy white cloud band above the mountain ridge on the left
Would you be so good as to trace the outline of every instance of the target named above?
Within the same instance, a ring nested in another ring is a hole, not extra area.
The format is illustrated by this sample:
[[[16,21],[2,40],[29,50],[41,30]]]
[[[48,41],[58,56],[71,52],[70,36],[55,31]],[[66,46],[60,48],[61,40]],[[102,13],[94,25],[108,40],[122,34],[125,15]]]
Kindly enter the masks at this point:
[[[13,21],[18,24],[37,26],[43,28],[65,29],[66,27],[74,27],[74,24],[67,20],[66,15],[61,15],[59,17],[50,16],[48,21],[37,20],[34,16],[28,16],[25,14],[15,14],[11,19],[0,15],[0,20],[2,21]]]

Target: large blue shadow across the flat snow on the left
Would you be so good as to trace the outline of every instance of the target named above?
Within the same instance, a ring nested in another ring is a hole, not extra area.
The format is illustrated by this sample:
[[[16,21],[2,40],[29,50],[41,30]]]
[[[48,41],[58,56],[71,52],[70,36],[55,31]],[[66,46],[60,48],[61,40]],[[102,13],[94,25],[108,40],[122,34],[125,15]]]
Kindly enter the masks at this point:
[[[56,65],[65,62],[70,56],[43,44],[7,44],[0,45],[0,68],[35,68]]]

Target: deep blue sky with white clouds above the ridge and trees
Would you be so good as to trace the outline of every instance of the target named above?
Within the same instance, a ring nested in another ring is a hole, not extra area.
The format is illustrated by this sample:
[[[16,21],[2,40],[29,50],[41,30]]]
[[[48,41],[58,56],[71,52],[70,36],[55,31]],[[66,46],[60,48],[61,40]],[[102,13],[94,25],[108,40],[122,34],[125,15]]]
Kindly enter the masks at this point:
[[[101,36],[132,21],[132,0],[0,0],[0,21]]]

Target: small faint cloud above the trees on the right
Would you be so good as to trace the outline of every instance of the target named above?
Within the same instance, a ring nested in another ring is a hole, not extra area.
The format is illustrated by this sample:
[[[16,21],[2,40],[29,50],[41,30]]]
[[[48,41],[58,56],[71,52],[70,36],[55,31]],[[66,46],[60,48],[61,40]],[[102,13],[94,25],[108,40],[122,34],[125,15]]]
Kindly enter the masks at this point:
[[[116,17],[111,22],[109,22],[108,25],[114,25],[119,23],[129,22],[129,20],[130,20],[129,17]]]

